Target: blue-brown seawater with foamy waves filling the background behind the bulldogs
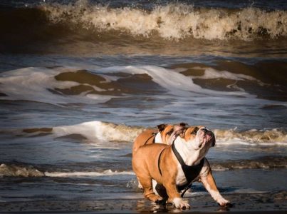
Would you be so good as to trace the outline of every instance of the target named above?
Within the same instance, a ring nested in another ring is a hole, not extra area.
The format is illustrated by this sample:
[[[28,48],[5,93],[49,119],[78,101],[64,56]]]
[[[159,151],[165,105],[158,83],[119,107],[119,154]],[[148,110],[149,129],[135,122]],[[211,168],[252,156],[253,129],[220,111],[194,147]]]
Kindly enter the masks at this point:
[[[214,131],[226,198],[286,192],[285,1],[0,7],[1,202],[142,199],[132,141],[180,122]]]

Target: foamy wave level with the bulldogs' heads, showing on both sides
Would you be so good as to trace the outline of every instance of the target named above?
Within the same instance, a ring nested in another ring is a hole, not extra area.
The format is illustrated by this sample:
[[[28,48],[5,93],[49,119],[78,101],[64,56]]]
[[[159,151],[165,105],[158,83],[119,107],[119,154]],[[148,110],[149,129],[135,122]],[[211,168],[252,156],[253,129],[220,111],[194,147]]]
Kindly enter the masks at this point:
[[[126,126],[124,124],[90,121],[71,126],[55,126],[53,128],[24,128],[26,136],[41,136],[41,133],[53,133],[56,137],[69,136],[84,141],[132,142],[144,126]],[[283,128],[266,128],[236,131],[236,129],[214,129],[216,145],[228,146],[243,144],[246,146],[287,146],[287,132]],[[16,132],[19,134],[19,132]]]

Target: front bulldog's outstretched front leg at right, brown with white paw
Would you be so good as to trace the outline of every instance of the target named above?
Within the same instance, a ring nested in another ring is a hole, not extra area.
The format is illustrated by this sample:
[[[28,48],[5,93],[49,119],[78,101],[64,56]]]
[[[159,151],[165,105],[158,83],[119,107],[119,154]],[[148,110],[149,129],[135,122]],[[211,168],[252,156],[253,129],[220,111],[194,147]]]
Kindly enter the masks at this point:
[[[219,203],[219,205],[225,206],[225,205],[230,203],[229,200],[224,199],[220,195],[219,190],[216,187],[215,180],[212,176],[211,170],[209,170],[209,172],[207,173],[206,176],[202,176],[201,180],[202,180],[202,183],[204,185],[204,188],[207,189],[207,191],[210,193],[210,195],[212,195],[212,198],[214,200],[216,200],[216,202]]]

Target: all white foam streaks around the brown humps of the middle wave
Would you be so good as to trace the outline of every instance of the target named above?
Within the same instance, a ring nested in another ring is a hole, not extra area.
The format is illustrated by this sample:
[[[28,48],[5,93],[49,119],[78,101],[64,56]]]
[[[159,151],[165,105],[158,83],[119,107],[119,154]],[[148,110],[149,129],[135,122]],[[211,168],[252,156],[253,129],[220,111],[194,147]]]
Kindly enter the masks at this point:
[[[26,100],[37,101],[52,104],[64,104],[64,103],[101,103],[115,98],[116,96],[106,96],[100,94],[91,94],[88,91],[81,93],[80,95],[65,95],[52,93],[54,88],[71,88],[73,86],[79,86],[80,83],[75,81],[56,81],[55,76],[59,73],[76,72],[80,68],[76,67],[61,67],[61,68],[21,68],[14,71],[7,71],[1,73],[0,77],[0,91],[7,96],[0,96],[0,99],[8,100]],[[234,80],[255,80],[251,76],[243,74],[229,73],[228,71],[216,71],[212,68],[206,68],[204,76],[192,77],[184,76],[182,73],[178,73],[172,69],[162,68],[159,66],[113,66],[108,68],[95,68],[90,71],[97,73],[97,75],[105,77],[105,81],[112,81],[120,77],[116,76],[118,72],[130,73],[130,74],[147,74],[152,78],[152,81],[159,84],[163,88],[174,95],[174,98],[184,98],[185,101],[189,101],[188,98],[196,98],[193,102],[206,101],[207,96],[210,99],[222,98],[229,99],[234,96],[233,102],[243,101],[242,98],[256,98],[256,96],[246,93],[241,88],[237,88],[239,91],[213,91],[207,88],[202,88],[196,84],[192,78],[231,78]],[[115,76],[106,76],[105,73],[115,73]],[[88,83],[84,85],[91,86]],[[96,91],[103,91],[102,88],[97,86],[91,86]],[[236,86],[232,86],[236,87]],[[50,89],[50,91],[48,91]],[[111,88],[110,88],[111,89]],[[108,89],[109,90],[109,89]],[[248,101],[247,99],[245,102]],[[217,102],[217,101],[216,101]],[[254,100],[252,100],[254,102]],[[178,102],[174,103],[177,105]],[[182,103],[182,102],[180,102]]]

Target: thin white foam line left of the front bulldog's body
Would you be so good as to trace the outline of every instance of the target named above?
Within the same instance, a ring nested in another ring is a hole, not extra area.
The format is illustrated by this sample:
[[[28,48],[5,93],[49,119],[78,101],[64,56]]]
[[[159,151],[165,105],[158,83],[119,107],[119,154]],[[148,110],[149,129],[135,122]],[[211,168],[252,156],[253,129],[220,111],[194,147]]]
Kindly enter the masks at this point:
[[[115,176],[115,175],[135,175],[132,171],[113,171],[105,170],[103,172],[45,172],[45,175],[48,177],[99,177],[99,176]]]

